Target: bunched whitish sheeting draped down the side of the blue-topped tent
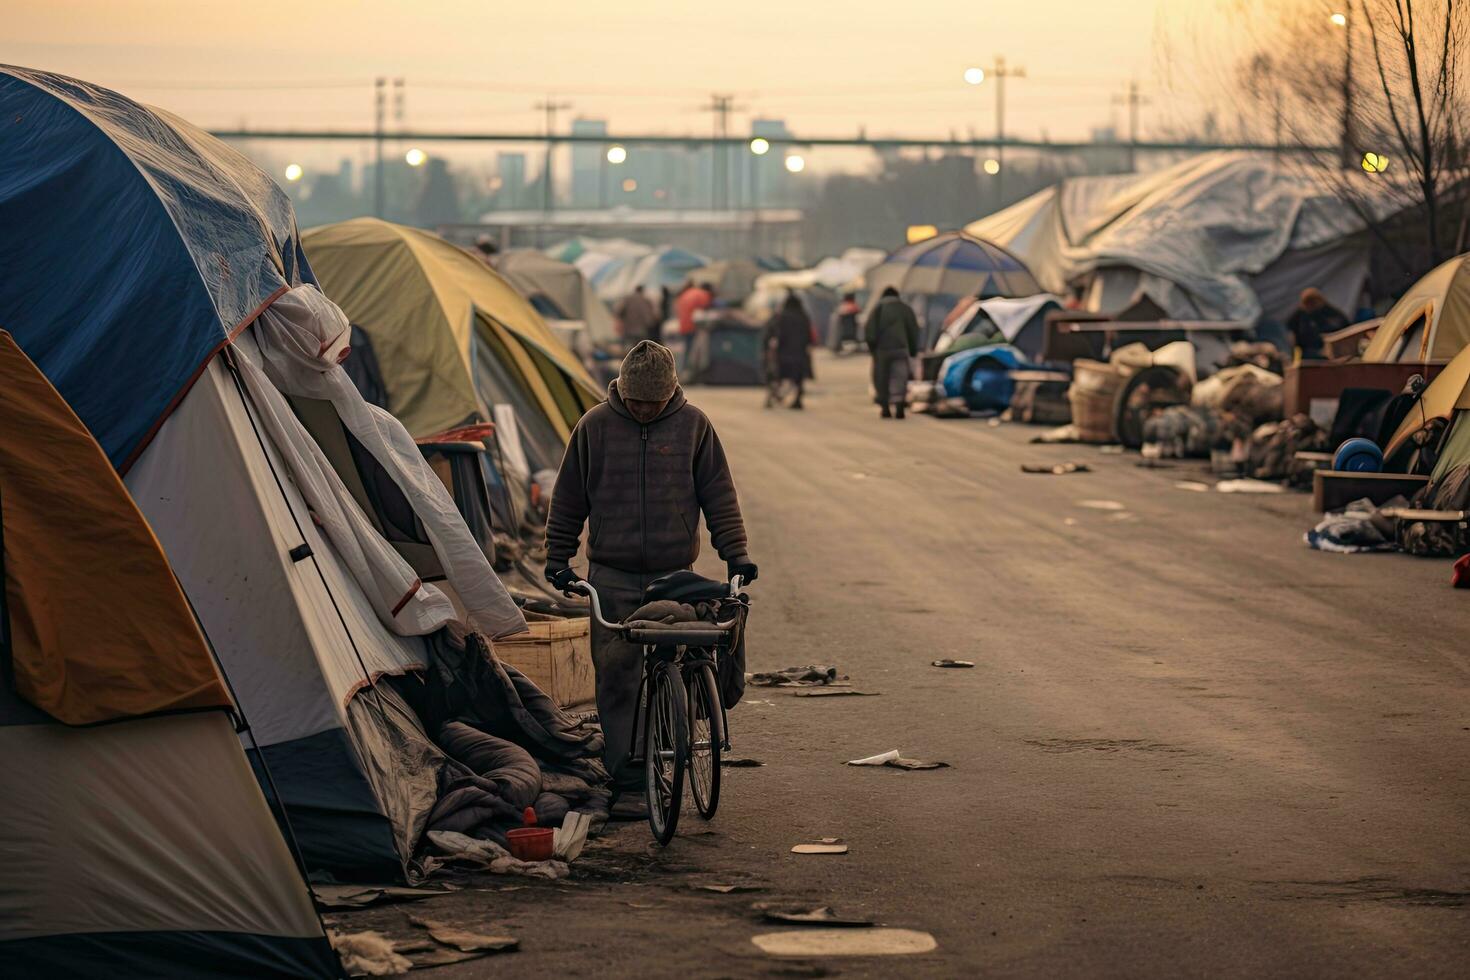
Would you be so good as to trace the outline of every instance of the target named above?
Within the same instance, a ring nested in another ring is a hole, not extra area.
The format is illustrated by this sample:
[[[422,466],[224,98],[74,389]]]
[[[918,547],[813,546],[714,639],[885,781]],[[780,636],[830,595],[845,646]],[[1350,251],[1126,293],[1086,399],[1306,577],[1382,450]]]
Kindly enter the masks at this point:
[[[251,378],[254,361],[248,357],[241,359],[245,383],[257,400],[257,410],[262,410],[262,400],[279,400],[279,392],[272,398],[273,389],[288,395],[331,401],[347,430],[378,460],[413,507],[450,585],[465,605],[470,627],[495,639],[525,632],[525,617],[510,594],[506,592],[506,586],[495,577],[485,560],[485,552],[469,533],[453,498],[423,460],[413,436],[391,414],[363,401],[347,372],[341,369],[340,361],[347,357],[347,342],[351,336],[351,326],[343,311],[316,287],[297,287],[260,314],[254,326],[254,336],[260,347],[265,373],[270,381],[270,385],[262,388],[260,379]],[[285,404],[284,400],[279,401],[282,406]],[[262,411],[262,414],[270,417],[270,413]],[[304,432],[301,429],[303,435]],[[287,438],[290,439],[290,435]],[[291,444],[294,442],[293,439]],[[376,598],[378,616],[400,633],[422,635],[440,629],[447,621],[441,616],[442,605],[447,602],[444,595],[432,585],[420,585],[415,598],[409,599],[407,605],[401,605],[403,594],[392,594],[392,588],[395,588],[394,583],[398,582],[398,574],[403,570],[412,577],[412,569],[368,523],[366,516],[356,507],[350,491],[331,470],[331,466],[328,466],[326,475],[320,475],[329,476],[331,486],[320,485],[320,480],[316,479],[319,476],[318,467],[312,466],[310,461],[318,457],[325,461],[326,457],[322,455],[315,442],[304,448],[306,454],[293,460],[288,448],[276,444],[276,450],[287,455],[293,473],[298,473],[297,485],[312,502],[316,516],[322,519],[323,527],[338,545],[338,551],[345,555],[357,554],[354,539],[363,530],[362,525],[366,525],[368,541],[360,545],[362,554],[375,563],[384,561],[388,555],[394,560],[390,569],[375,567],[369,577],[359,577],[359,585],[369,591],[369,595],[373,595],[372,589],[381,589],[381,582],[390,583],[387,592],[379,591],[373,597]],[[298,467],[304,467],[304,475],[300,475]],[[329,489],[332,500],[340,507],[332,507],[331,500],[326,501],[325,508],[318,507],[313,501],[313,489],[315,494]],[[341,520],[328,517],[337,510],[348,514],[347,526]],[[354,517],[360,517],[362,522],[354,520]],[[340,535],[345,533],[350,533],[351,538],[340,539]],[[353,561],[348,564],[354,574],[362,574],[357,564]],[[394,607],[391,602],[400,605]],[[410,613],[415,607],[417,610]],[[450,616],[454,617],[453,605],[450,605]]]

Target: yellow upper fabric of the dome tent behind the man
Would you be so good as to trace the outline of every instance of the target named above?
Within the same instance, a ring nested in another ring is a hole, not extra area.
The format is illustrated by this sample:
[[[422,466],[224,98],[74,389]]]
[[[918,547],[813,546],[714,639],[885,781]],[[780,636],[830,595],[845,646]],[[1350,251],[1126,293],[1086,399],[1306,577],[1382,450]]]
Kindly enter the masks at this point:
[[[509,282],[438,235],[357,217],[306,231],[301,245],[322,291],[372,341],[388,410],[415,436],[488,422],[487,364],[563,442],[603,398]]]

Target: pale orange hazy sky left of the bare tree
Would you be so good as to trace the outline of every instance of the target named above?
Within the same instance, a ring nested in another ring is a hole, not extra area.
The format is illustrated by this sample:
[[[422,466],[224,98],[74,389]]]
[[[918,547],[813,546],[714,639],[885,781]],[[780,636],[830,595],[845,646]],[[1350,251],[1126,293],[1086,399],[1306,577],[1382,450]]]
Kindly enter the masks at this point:
[[[545,93],[614,131],[709,132],[734,93],[797,134],[989,134],[995,56],[1013,135],[1122,125],[1130,76],[1152,101],[1160,13],[1214,0],[3,0],[0,62],[76,75],[204,126],[368,126],[370,81],[406,79],[406,125],[539,132]],[[564,125],[564,122],[563,122]]]

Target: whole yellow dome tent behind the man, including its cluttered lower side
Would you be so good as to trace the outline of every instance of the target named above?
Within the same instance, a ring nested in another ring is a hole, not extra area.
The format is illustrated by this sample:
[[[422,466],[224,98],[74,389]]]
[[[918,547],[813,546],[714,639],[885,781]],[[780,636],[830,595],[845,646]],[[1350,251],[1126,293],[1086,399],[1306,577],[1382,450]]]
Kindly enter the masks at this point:
[[[481,469],[495,567],[517,598],[569,611],[544,588],[537,558],[572,426],[601,400],[581,361],[506,279],[435,235],[360,217],[313,228],[301,244],[323,291],[369,339],[376,385],[409,432],[435,455],[476,441],[488,450],[460,467]],[[487,423],[492,433],[472,428]],[[476,507],[475,494],[457,501],[466,516]]]

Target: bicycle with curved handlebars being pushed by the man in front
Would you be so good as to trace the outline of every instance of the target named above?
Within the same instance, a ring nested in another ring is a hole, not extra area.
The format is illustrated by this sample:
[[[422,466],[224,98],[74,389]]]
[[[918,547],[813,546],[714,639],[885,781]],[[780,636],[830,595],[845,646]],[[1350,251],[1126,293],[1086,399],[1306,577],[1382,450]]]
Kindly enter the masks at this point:
[[[720,802],[720,754],[729,751],[731,742],[717,677],[720,654],[735,645],[750,608],[750,597],[739,591],[741,585],[741,577],[734,576],[729,594],[720,597],[722,602],[735,607],[731,619],[669,626],[610,623],[603,619],[592,583],[578,580],[572,585],[572,589],[587,595],[592,617],[603,627],[642,646],[642,677],[628,755],[629,761],[644,765],[648,829],[654,840],[664,846],[679,823],[685,771],[691,774],[689,790],[700,817],[711,820]],[[641,760],[639,720],[644,730]]]

